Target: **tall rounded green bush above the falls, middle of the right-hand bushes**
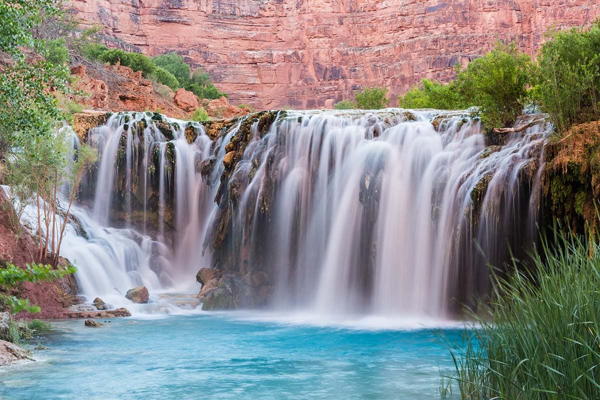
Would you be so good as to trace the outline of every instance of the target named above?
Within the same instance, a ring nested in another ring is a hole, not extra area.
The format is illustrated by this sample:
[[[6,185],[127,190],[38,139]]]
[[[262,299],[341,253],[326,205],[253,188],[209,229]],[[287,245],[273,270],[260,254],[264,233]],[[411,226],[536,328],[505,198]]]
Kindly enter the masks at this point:
[[[523,111],[531,70],[531,58],[514,43],[499,43],[460,71],[456,85],[465,103],[480,107],[485,127],[507,127]]]

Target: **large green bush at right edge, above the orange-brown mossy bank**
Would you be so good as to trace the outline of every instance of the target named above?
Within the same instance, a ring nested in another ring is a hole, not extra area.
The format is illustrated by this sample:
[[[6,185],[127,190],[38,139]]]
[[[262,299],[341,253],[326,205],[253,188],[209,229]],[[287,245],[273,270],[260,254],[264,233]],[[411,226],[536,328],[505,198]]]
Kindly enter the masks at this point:
[[[539,55],[535,95],[559,131],[600,119],[600,20],[554,33]]]

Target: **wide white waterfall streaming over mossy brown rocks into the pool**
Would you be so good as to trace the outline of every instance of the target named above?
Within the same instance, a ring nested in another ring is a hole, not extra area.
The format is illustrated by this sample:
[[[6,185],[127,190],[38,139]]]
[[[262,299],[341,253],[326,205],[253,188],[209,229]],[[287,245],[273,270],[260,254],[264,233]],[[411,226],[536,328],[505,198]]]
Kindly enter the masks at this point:
[[[87,296],[197,290],[213,267],[239,307],[448,317],[537,236],[548,127],[517,124],[486,142],[468,110],[114,114],[64,253]]]

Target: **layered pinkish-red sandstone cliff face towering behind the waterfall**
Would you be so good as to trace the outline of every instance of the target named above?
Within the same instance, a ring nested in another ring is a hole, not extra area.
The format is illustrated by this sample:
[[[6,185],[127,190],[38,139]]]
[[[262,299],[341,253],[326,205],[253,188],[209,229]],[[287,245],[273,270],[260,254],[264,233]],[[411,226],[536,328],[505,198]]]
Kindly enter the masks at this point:
[[[361,86],[396,96],[514,40],[535,53],[549,26],[590,24],[585,0],[73,0],[79,17],[148,55],[176,50],[233,104],[319,108]],[[115,45],[122,46],[115,41]]]

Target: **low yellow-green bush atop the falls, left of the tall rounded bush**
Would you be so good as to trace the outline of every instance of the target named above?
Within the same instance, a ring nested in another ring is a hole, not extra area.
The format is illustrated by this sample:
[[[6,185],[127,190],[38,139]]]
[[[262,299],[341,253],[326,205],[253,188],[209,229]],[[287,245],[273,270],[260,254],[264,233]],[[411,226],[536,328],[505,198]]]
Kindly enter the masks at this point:
[[[422,79],[398,98],[398,107],[404,109],[456,110],[467,107],[455,81],[445,85],[435,80]]]

